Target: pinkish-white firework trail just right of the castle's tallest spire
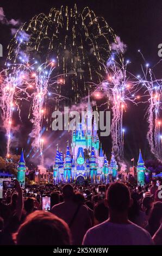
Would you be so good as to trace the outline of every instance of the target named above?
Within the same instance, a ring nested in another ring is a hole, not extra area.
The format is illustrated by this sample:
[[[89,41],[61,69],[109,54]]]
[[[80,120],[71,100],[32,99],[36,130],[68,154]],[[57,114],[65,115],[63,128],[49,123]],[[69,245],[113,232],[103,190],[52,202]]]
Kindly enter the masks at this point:
[[[111,120],[111,138],[116,156],[123,159],[124,130],[123,112],[126,111],[126,100],[129,99],[129,84],[127,84],[126,65],[120,68],[114,64],[107,69],[108,80],[104,81],[103,88],[107,89],[109,100],[112,104],[113,119]],[[105,87],[106,86],[106,87]]]

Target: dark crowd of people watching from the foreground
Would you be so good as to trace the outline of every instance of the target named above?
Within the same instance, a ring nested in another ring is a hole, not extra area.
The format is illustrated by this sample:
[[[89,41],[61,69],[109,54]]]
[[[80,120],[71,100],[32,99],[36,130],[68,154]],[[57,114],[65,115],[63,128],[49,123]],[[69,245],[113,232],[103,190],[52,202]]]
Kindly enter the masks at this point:
[[[144,187],[33,185],[4,191],[0,245],[162,245],[162,180]],[[50,197],[48,211],[42,198]]]

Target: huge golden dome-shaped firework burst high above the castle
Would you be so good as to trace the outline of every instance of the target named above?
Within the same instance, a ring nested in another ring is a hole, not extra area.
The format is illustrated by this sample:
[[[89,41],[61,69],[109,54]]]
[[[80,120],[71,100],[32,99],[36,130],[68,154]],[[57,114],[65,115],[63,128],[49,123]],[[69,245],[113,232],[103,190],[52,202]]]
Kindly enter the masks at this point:
[[[103,17],[88,7],[79,12],[76,5],[73,9],[62,6],[24,23],[10,42],[7,61],[17,63],[21,52],[25,53],[22,60],[28,56],[47,63],[54,58],[55,75],[64,74],[61,83],[65,86],[58,93],[67,95],[68,91],[67,96],[77,103],[88,93],[86,82],[103,80],[102,63],[110,57],[112,42],[116,35]]]

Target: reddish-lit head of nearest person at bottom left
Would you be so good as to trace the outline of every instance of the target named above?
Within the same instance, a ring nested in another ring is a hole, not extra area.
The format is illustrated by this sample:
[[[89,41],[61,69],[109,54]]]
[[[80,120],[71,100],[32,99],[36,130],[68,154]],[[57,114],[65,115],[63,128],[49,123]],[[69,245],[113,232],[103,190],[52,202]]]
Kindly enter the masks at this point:
[[[70,230],[65,221],[45,211],[28,215],[14,235],[17,245],[70,245]]]

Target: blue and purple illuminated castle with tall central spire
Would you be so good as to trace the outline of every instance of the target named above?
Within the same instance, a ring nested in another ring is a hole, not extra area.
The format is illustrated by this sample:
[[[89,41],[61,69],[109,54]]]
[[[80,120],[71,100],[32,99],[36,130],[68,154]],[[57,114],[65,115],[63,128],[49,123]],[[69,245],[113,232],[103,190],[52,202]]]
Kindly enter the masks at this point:
[[[63,153],[57,149],[53,166],[54,184],[59,182],[83,184],[85,181],[107,183],[109,180],[115,180],[118,166],[114,153],[111,154],[109,164],[107,157],[103,155],[102,148],[99,149],[97,123],[94,118],[92,124],[92,107],[90,96],[88,96],[86,118],[73,130],[71,150],[67,145],[66,154],[63,157]]]

